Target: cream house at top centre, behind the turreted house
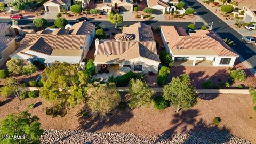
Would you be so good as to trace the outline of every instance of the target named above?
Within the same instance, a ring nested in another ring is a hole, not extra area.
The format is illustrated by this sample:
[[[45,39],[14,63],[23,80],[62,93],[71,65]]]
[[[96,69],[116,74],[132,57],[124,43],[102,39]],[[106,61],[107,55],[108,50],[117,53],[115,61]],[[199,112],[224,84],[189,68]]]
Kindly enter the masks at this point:
[[[102,4],[97,4],[96,9],[104,13],[109,13],[115,9],[133,11],[133,2],[130,0],[103,0]]]

